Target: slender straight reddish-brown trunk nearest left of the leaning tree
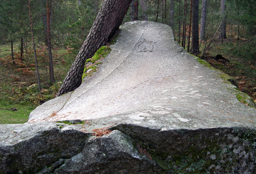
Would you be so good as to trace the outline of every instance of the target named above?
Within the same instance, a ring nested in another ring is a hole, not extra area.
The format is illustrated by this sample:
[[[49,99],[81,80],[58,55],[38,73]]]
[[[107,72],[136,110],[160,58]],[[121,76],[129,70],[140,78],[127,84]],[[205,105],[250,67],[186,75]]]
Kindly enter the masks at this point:
[[[50,33],[50,17],[51,17],[51,0],[46,1],[47,8],[47,42],[48,42],[48,53],[49,53],[49,72],[50,82],[55,83],[54,80],[54,69],[53,69],[53,57],[52,57],[52,44],[51,44],[51,33]]]

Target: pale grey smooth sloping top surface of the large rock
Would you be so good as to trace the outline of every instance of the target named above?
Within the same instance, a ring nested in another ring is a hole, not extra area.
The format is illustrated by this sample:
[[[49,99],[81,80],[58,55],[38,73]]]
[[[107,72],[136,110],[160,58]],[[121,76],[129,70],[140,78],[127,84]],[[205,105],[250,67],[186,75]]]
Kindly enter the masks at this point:
[[[223,72],[200,64],[164,24],[134,21],[121,27],[98,71],[72,93],[37,107],[28,123],[90,120],[161,129],[245,126],[255,128],[256,109]]]

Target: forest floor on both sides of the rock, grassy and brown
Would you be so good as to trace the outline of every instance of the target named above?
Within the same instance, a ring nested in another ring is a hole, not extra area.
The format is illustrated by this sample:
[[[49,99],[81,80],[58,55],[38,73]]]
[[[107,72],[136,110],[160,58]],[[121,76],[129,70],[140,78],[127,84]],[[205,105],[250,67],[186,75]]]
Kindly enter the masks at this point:
[[[235,44],[221,44],[209,49],[202,58],[216,69],[234,77],[242,92],[247,93],[256,102],[256,62],[231,54]],[[211,45],[220,44],[216,39]],[[0,45],[0,123],[25,123],[29,113],[38,105],[53,99],[58,92],[76,54],[71,49],[59,47],[53,49],[55,83],[49,82],[49,68],[46,47],[37,49],[42,92],[38,92],[33,51],[28,51],[20,61],[20,55],[14,53],[11,60],[10,46]],[[14,51],[19,50],[14,44]],[[216,55],[219,56],[216,59]],[[199,55],[198,55],[199,56]],[[215,57],[215,58],[214,58]],[[17,109],[17,110],[16,110]]]

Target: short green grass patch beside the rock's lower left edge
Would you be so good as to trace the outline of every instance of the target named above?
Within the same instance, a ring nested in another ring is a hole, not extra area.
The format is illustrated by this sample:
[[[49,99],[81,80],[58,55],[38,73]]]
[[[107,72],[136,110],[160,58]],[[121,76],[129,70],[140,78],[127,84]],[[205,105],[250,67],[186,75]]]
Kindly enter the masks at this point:
[[[15,107],[17,111],[9,111]],[[32,103],[11,104],[0,100],[0,124],[26,123],[29,114],[36,108]]]

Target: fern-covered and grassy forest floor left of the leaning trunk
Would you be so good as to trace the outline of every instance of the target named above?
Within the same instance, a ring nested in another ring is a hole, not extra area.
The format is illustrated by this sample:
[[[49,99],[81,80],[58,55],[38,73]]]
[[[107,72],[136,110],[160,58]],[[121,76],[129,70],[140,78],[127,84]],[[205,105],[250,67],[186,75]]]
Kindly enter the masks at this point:
[[[14,43],[14,61],[11,44],[0,45],[0,123],[25,123],[29,113],[40,104],[55,98],[61,83],[75,60],[76,55],[65,47],[53,49],[55,83],[49,81],[46,47],[37,49],[37,60],[42,91],[39,93],[32,50],[23,55]],[[16,108],[17,111],[12,111]]]

